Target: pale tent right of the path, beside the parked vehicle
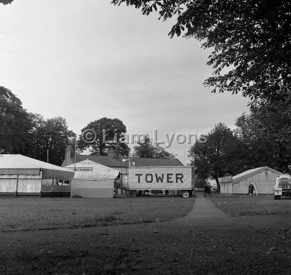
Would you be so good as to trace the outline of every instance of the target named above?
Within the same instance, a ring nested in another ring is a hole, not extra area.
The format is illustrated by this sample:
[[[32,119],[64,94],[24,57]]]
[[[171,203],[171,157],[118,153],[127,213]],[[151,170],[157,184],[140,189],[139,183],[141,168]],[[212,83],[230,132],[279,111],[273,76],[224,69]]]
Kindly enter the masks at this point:
[[[251,181],[258,194],[273,194],[273,187],[278,175],[283,173],[268,166],[244,171],[236,176],[220,178],[220,192],[226,195],[246,194]]]

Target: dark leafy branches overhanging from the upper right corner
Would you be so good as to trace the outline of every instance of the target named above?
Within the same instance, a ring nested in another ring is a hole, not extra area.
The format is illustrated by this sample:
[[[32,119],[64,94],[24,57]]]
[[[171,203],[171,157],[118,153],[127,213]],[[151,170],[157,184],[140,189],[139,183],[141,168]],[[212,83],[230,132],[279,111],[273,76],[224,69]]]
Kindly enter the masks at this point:
[[[178,15],[169,35],[194,37],[212,49],[212,92],[242,92],[254,103],[284,99],[291,87],[291,1],[282,0],[112,0],[159,11],[166,20]]]

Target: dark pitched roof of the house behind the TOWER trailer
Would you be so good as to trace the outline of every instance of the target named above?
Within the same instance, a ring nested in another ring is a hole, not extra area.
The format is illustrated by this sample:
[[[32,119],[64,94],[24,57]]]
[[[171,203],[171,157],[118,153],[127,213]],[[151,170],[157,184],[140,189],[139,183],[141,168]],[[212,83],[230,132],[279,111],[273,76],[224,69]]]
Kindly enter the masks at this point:
[[[127,157],[116,156],[113,159],[111,156],[97,155],[76,155],[76,162],[93,161],[108,167],[129,167],[129,162],[122,162]],[[135,166],[184,166],[178,159],[146,159],[146,158],[130,158]],[[74,163],[74,159],[71,159]]]

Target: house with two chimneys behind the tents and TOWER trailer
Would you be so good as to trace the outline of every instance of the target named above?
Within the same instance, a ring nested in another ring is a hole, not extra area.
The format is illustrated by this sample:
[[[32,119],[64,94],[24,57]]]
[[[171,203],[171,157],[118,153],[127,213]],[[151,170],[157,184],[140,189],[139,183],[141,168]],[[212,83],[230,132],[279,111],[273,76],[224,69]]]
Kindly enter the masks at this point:
[[[98,155],[76,155],[76,163],[85,160],[97,162],[99,164],[114,168],[121,171],[123,174],[127,173],[129,162],[122,162],[125,157],[116,156],[115,150],[109,150],[107,156]],[[135,166],[184,166],[178,159],[150,159],[150,158],[130,158]],[[68,146],[65,150],[65,160],[62,167],[75,163],[74,149]]]

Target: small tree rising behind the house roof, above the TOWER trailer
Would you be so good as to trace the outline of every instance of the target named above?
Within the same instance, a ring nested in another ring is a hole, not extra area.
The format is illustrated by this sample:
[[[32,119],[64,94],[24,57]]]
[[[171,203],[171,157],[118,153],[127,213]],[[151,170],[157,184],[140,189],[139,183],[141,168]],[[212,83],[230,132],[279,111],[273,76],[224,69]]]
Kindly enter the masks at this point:
[[[153,159],[175,159],[176,155],[169,153],[159,144],[153,144],[153,139],[146,134],[143,140],[137,141],[133,147],[133,156]]]

